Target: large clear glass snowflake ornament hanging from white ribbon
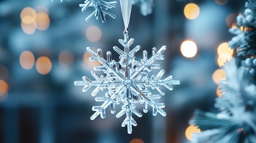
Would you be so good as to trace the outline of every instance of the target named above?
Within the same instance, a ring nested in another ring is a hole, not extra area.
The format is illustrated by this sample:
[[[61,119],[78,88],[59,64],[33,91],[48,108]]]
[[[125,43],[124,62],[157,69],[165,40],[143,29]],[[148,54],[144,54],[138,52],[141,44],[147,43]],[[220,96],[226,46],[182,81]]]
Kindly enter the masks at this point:
[[[148,112],[148,105],[152,107],[152,114],[157,115],[157,112],[162,116],[166,116],[166,112],[162,110],[165,107],[164,103],[155,103],[154,99],[159,99],[165,92],[161,86],[165,86],[168,90],[173,90],[172,85],[179,85],[179,80],[172,80],[173,76],[169,76],[164,80],[160,78],[164,75],[165,70],[160,70],[157,75],[149,75],[151,69],[160,69],[159,64],[153,64],[155,60],[164,59],[162,53],[166,50],[166,46],[162,46],[157,51],[157,48],[152,48],[152,57],[148,59],[148,52],[143,51],[143,59],[136,61],[135,53],[139,51],[141,46],[136,46],[130,51],[130,46],[134,42],[134,39],[129,40],[128,31],[124,32],[124,40],[119,39],[119,43],[124,46],[124,51],[119,47],[114,46],[113,49],[119,56],[119,62],[112,59],[112,53],[108,51],[106,53],[107,59],[103,58],[102,50],[98,49],[97,53],[90,47],[86,50],[92,54],[90,61],[99,61],[102,65],[95,66],[91,71],[95,81],[90,80],[88,77],[83,76],[83,81],[74,81],[75,86],[84,86],[82,91],[86,92],[90,87],[96,86],[92,91],[92,96],[97,95],[99,90],[108,89],[104,97],[95,97],[96,101],[103,102],[101,106],[93,106],[92,110],[95,113],[90,117],[94,120],[97,116],[101,118],[106,117],[106,108],[110,106],[111,113],[116,112],[116,105],[123,103],[121,111],[116,114],[117,118],[126,114],[126,118],[121,124],[122,127],[127,125],[128,134],[132,133],[132,125],[137,126],[137,122],[132,118],[132,113],[137,117],[142,117],[141,112],[136,110],[136,103],[143,104],[143,112]],[[106,76],[99,76],[96,71],[103,70]],[[157,89],[160,93],[153,95],[151,89]]]

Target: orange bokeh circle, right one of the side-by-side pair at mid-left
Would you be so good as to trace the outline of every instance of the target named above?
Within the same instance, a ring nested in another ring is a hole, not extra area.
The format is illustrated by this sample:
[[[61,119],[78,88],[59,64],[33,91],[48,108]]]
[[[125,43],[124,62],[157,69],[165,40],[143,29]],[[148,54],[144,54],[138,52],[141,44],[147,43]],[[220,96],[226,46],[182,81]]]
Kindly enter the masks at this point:
[[[36,70],[42,75],[46,75],[52,69],[52,63],[48,57],[39,57],[36,60]]]

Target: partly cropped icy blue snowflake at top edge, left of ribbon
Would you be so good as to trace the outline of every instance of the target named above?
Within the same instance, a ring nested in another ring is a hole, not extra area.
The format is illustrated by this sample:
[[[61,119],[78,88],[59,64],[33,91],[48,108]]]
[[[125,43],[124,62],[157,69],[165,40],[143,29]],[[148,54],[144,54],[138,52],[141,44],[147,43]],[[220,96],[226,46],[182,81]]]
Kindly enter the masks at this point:
[[[106,2],[104,0],[85,0],[84,4],[79,4],[79,7],[82,7],[82,12],[85,11],[88,7],[94,7],[95,9],[87,18],[85,18],[85,21],[88,21],[90,18],[92,18],[92,16],[95,16],[97,20],[101,18],[101,22],[105,23],[106,15],[109,15],[114,19],[116,18],[115,15],[107,11],[108,9],[115,8],[116,4],[117,1]]]

